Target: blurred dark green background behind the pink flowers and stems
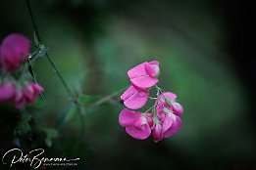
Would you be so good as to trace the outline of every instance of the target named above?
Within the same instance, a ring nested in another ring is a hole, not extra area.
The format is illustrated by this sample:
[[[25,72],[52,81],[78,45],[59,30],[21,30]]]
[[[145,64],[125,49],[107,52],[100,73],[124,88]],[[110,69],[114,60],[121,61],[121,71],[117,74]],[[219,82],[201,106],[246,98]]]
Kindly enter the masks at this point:
[[[1,109],[1,155],[42,147],[50,156],[81,158],[77,167],[41,169],[256,169],[253,1],[31,0],[31,6],[73,93],[107,96],[128,85],[130,67],[158,60],[159,85],[178,94],[183,125],[158,144],[134,140],[118,124],[124,107],[118,100],[83,116],[74,111],[60,125],[74,106],[39,58],[33,68],[46,104],[28,108],[31,132],[22,137],[14,133],[19,111]],[[12,32],[33,39],[26,1],[1,1],[0,19],[1,41]],[[38,127],[59,134],[46,141],[34,132]]]

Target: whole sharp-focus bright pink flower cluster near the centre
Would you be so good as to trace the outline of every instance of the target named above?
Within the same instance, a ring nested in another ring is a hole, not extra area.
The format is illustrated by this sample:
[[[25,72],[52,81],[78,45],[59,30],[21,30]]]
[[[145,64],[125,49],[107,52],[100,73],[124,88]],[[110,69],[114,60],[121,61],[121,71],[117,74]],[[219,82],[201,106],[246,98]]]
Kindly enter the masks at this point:
[[[159,75],[157,61],[139,64],[128,70],[131,86],[121,96],[124,108],[119,115],[119,123],[126,128],[131,137],[144,140],[152,132],[153,141],[159,142],[179,132],[183,113],[182,106],[176,102],[177,95],[172,92],[163,92],[156,84]],[[149,97],[149,91],[155,87],[156,98]],[[155,104],[145,112],[133,111],[145,106],[148,99],[154,99]],[[151,110],[151,111],[150,111]]]

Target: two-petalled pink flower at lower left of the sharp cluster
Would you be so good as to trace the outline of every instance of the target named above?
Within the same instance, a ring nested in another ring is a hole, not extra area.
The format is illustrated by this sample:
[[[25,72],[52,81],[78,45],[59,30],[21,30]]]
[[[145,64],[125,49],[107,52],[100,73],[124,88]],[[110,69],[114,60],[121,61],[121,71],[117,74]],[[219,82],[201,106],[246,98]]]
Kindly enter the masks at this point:
[[[150,136],[151,129],[147,118],[141,112],[124,108],[119,115],[119,123],[126,127],[128,135],[137,140],[144,140]]]

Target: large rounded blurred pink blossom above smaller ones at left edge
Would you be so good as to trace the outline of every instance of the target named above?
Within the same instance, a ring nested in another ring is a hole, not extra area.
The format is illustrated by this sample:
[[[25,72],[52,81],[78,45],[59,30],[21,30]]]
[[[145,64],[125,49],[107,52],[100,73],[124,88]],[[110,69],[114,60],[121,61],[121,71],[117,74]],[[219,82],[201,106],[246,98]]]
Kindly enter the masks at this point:
[[[16,70],[26,59],[30,43],[26,36],[18,33],[8,35],[0,47],[0,63],[6,72]]]

